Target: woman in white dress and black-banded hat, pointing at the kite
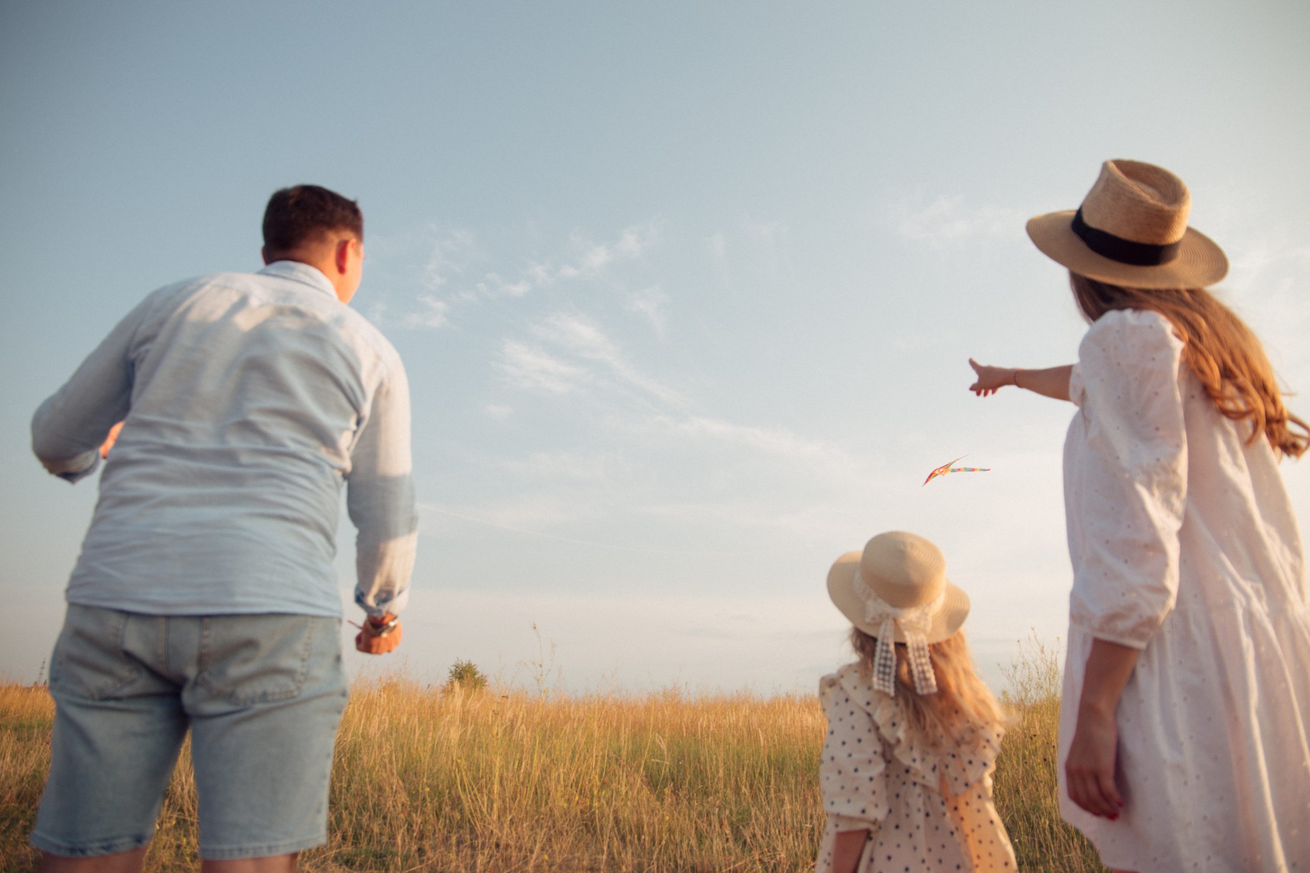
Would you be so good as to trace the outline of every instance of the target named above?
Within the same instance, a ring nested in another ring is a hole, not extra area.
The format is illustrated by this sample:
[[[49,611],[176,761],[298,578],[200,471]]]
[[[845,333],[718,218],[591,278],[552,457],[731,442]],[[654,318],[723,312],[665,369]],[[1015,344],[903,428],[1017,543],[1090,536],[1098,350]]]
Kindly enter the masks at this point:
[[[1310,868],[1310,607],[1282,455],[1307,446],[1172,173],[1107,161],[1028,223],[1091,323],[1074,366],[973,364],[1079,406],[1061,813],[1119,870]],[[972,361],[971,361],[972,364]]]

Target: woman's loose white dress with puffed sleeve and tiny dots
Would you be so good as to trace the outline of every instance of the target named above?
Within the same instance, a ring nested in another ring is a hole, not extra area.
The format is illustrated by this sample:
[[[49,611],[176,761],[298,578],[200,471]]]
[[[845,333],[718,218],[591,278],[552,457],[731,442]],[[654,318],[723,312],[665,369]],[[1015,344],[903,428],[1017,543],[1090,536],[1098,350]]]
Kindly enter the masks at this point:
[[[1065,442],[1074,582],[1060,801],[1108,866],[1310,870],[1310,606],[1277,457],[1224,418],[1150,312],[1078,349]],[[1141,649],[1116,715],[1117,821],[1068,797],[1094,639]]]

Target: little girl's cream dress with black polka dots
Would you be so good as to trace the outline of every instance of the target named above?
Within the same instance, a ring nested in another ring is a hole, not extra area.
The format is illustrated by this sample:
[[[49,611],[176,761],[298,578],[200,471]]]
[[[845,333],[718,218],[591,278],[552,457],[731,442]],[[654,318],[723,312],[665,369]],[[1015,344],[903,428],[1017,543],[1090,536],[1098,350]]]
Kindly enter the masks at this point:
[[[1013,873],[1014,849],[992,806],[998,726],[968,749],[930,749],[857,664],[820,679],[819,699],[828,716],[819,764],[828,828],[816,873],[832,870],[837,832],[855,830],[869,831],[859,873]]]

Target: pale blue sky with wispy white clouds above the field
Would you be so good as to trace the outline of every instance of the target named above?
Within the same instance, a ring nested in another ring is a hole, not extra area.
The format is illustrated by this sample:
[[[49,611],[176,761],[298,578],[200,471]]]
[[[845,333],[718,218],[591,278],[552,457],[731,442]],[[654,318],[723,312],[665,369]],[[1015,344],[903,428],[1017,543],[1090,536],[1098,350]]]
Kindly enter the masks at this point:
[[[1086,330],[1024,221],[1167,166],[1310,389],[1307,45],[1272,0],[3,4],[0,678],[42,675],[96,500],[33,411],[153,288],[259,268],[313,182],[364,211],[352,305],[414,406],[405,640],[351,670],[808,692],[850,658],[828,567],[899,529],[1003,687],[1065,633],[1073,407],[967,360]],[[958,455],[990,472],[921,484]]]

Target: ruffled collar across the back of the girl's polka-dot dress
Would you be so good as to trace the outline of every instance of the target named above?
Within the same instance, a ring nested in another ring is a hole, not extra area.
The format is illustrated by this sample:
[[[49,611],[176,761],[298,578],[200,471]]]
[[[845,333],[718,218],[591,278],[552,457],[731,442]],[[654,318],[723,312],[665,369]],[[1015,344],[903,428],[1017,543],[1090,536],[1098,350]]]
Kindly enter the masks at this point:
[[[951,797],[963,794],[996,766],[1001,737],[1005,734],[1001,725],[973,730],[959,745],[933,747],[926,737],[909,729],[909,720],[897,699],[874,690],[872,682],[858,664],[848,664],[832,675],[825,675],[819,687],[825,711],[833,688],[841,687],[853,703],[872,716],[892,757],[917,781],[934,791],[941,791],[941,781],[946,780]]]

